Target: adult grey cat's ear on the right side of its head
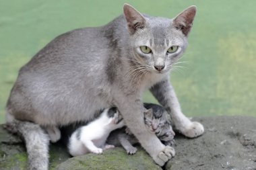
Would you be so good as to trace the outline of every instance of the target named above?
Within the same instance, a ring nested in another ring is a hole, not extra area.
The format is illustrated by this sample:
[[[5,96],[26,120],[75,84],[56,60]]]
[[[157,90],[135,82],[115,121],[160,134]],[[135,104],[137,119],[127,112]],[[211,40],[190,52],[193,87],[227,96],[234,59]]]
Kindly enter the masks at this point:
[[[197,7],[195,6],[191,6],[185,9],[182,13],[173,19],[172,26],[174,26],[174,28],[177,30],[181,30],[185,36],[188,36],[193,26],[193,20],[196,12]]]

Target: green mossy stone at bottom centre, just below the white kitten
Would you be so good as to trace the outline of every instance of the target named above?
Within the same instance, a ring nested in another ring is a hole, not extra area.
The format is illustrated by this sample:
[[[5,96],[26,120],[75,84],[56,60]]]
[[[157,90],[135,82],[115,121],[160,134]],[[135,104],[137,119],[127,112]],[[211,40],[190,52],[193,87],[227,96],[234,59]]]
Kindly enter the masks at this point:
[[[162,168],[156,165],[153,159],[141,148],[138,149],[135,155],[127,155],[126,151],[120,147],[106,150],[102,155],[88,154],[73,157],[57,167],[57,170],[69,169],[162,170]]]

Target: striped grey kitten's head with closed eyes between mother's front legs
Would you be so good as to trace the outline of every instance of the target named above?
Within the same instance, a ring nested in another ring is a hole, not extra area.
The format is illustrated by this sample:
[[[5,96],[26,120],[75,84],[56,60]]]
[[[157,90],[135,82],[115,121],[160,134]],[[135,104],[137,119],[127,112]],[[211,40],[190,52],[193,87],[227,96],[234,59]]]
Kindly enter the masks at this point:
[[[159,133],[166,122],[165,113],[162,110],[153,112],[152,108],[143,112],[144,123],[152,133]]]

